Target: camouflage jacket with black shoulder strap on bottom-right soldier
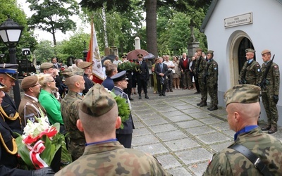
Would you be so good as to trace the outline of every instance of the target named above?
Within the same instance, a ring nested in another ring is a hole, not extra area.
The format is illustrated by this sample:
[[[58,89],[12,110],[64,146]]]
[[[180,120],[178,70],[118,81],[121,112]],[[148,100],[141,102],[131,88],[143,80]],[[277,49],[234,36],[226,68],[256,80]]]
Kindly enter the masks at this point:
[[[234,144],[241,144],[255,153],[272,175],[282,175],[282,144],[258,127],[240,134]],[[233,149],[215,153],[204,175],[262,175],[243,154]]]

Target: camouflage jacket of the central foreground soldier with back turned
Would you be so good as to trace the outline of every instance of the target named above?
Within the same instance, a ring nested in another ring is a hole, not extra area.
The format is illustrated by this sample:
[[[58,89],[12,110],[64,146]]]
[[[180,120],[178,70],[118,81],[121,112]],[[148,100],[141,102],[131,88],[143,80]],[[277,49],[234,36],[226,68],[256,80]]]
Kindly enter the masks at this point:
[[[83,156],[56,175],[171,175],[153,156],[125,149],[119,142],[85,147]]]

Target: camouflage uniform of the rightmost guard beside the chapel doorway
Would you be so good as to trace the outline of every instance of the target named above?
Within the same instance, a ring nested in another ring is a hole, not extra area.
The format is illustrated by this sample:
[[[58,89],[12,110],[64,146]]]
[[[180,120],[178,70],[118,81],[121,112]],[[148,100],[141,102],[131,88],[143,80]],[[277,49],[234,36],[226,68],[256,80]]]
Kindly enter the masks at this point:
[[[264,75],[267,66],[267,63],[262,64],[262,75]],[[265,84],[265,89],[262,87],[262,103],[264,104],[267,115],[267,125],[277,127],[278,112],[276,103],[274,102],[274,95],[279,95],[280,73],[276,63],[272,63],[266,80],[268,84]]]

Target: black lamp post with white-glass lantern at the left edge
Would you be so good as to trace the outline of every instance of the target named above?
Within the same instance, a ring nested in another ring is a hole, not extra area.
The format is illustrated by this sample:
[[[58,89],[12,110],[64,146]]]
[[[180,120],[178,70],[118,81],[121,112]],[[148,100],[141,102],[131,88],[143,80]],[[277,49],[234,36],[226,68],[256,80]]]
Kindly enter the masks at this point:
[[[16,64],[16,46],[20,41],[20,35],[23,32],[23,26],[18,25],[8,16],[8,19],[0,25],[1,41],[8,47],[10,63]],[[16,106],[20,104],[20,86],[18,84],[18,74],[16,75],[15,86],[13,87],[13,98]]]

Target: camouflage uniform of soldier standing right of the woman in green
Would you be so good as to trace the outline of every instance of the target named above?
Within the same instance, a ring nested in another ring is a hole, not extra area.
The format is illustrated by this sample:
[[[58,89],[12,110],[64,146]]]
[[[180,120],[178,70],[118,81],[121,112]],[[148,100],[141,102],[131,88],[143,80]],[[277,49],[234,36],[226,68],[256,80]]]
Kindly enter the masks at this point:
[[[71,156],[77,159],[82,156],[85,149],[85,135],[76,127],[78,117],[78,107],[82,96],[76,92],[68,91],[68,94],[61,103],[61,114],[63,116],[63,123],[65,124],[66,131],[69,133],[70,144],[68,144],[68,151]]]

